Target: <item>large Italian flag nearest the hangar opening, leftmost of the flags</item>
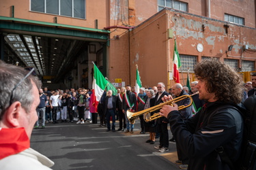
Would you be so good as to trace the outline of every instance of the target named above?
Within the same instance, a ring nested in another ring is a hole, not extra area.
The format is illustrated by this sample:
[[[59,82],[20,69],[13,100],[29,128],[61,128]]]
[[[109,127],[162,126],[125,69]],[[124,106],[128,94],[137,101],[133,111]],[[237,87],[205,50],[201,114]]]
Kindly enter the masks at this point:
[[[96,109],[96,112],[100,97],[102,97],[102,94],[106,88],[106,84],[108,84],[107,80],[104,78],[102,73],[100,73],[98,67],[96,67],[94,64],[94,80],[92,82],[92,94],[90,99],[93,100],[92,103]]]

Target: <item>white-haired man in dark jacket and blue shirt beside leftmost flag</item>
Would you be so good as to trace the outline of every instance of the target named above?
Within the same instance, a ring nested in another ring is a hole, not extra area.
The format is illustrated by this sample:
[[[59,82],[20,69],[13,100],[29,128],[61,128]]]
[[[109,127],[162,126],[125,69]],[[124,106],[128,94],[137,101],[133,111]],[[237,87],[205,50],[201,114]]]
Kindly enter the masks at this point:
[[[105,115],[106,115],[106,131],[111,131],[110,118],[112,117],[112,131],[115,132],[115,110],[116,110],[116,96],[112,95],[112,90],[107,92],[105,99]]]

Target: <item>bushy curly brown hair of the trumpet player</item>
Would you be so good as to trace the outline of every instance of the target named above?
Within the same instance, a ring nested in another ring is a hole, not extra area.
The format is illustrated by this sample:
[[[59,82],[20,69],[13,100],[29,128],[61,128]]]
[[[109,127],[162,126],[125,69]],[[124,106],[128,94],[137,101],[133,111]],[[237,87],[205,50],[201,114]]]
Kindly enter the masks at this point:
[[[223,103],[240,103],[243,97],[243,82],[240,75],[217,58],[203,60],[195,65],[195,76],[205,80],[208,92],[214,92]]]

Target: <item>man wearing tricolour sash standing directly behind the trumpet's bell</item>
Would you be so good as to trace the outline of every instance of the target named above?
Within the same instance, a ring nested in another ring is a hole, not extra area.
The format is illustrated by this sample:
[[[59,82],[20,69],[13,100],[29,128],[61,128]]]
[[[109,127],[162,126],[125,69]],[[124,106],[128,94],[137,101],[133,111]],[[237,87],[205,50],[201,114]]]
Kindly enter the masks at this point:
[[[136,96],[133,92],[131,92],[132,87],[130,85],[126,86],[126,92],[124,93],[123,98],[123,113],[126,116],[126,132],[125,133],[133,133],[134,124],[131,124],[129,119],[127,118],[126,112],[129,109],[130,112],[135,112],[137,108]]]

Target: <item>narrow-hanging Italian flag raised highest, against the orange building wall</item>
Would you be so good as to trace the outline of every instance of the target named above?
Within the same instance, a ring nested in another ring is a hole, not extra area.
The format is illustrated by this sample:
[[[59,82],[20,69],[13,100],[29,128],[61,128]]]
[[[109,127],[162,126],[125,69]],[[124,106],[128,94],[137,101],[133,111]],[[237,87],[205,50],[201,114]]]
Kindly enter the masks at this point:
[[[180,55],[177,51],[176,39],[174,40],[174,52],[173,52],[173,80],[175,83],[180,83],[179,68],[182,66],[180,63]]]

